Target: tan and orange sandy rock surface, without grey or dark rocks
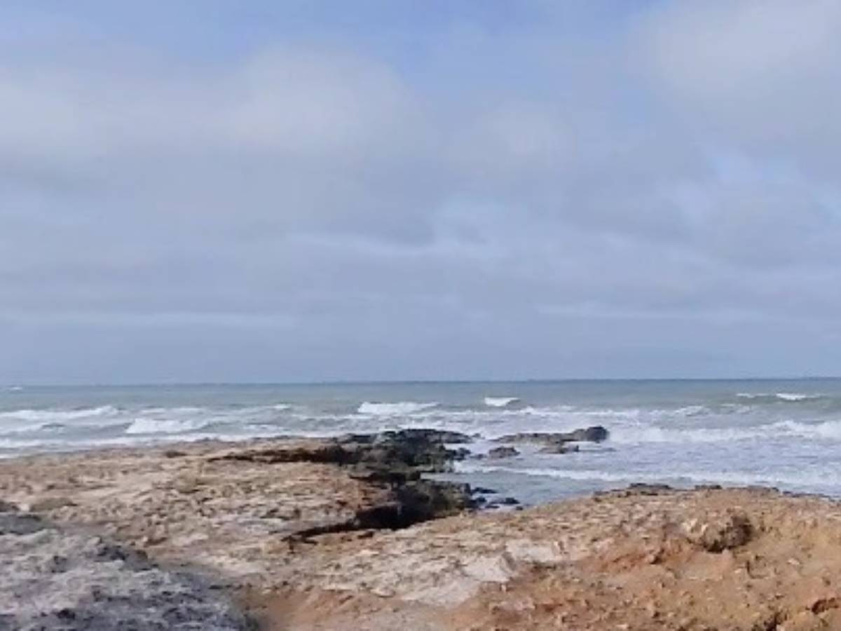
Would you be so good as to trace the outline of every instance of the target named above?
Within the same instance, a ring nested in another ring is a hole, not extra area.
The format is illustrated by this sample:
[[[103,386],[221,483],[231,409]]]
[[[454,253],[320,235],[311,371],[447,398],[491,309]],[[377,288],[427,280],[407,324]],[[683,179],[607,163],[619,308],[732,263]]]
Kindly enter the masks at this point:
[[[200,566],[266,628],[841,629],[835,501],[639,487],[391,530],[412,476],[284,455],[318,445],[19,459],[0,496]]]

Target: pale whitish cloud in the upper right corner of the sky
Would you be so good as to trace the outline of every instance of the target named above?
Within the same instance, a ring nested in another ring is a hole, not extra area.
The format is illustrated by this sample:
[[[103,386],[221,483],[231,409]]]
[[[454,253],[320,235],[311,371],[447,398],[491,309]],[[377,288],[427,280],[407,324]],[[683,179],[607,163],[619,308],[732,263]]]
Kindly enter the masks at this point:
[[[828,0],[689,2],[648,15],[636,44],[653,87],[710,141],[823,170],[841,140],[839,27]]]

